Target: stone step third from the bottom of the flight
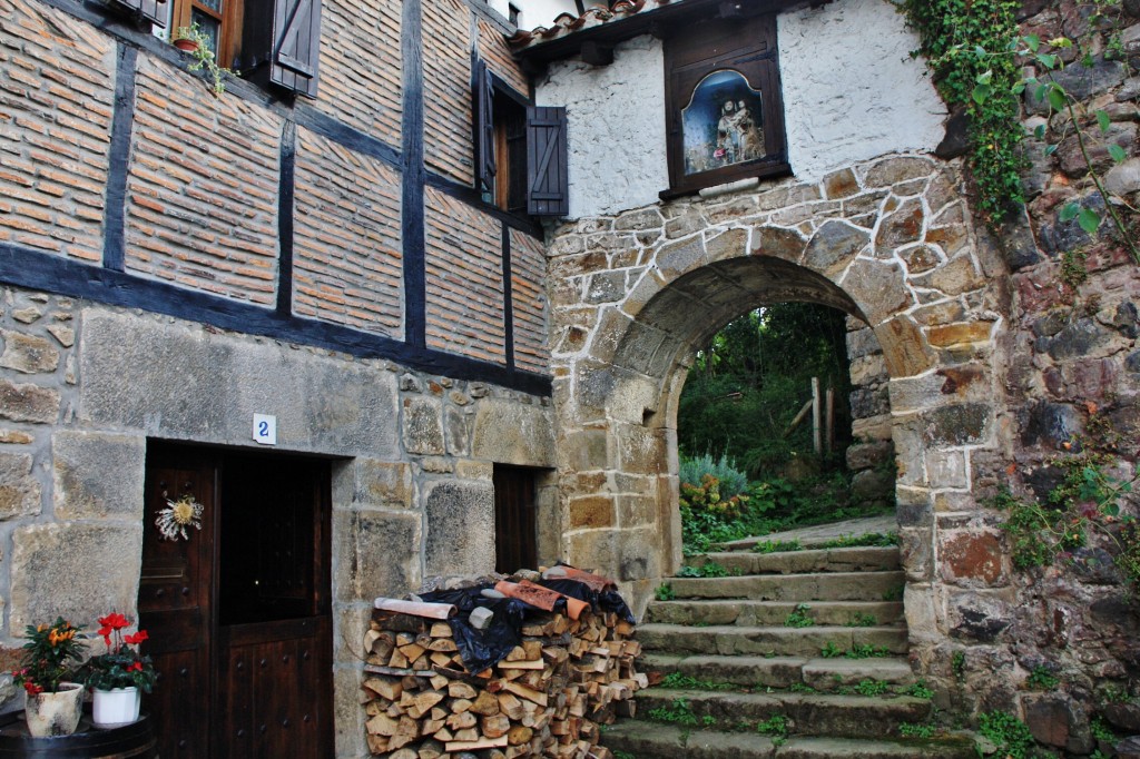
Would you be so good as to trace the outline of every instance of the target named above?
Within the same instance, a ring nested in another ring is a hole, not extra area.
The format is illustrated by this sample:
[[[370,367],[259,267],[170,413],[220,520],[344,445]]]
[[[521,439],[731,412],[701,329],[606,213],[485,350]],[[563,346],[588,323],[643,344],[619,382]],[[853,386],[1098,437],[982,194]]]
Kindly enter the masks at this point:
[[[889,683],[891,688],[914,683],[905,659],[813,659],[808,656],[720,656],[646,653],[637,660],[637,671],[681,672],[709,683],[732,683],[742,687],[788,689],[809,686],[822,693],[852,687],[862,680]]]

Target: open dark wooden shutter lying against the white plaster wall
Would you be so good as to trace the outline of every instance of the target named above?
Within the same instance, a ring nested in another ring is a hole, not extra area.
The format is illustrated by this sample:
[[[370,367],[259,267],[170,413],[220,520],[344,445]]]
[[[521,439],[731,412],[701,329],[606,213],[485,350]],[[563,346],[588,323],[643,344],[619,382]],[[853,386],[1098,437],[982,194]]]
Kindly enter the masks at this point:
[[[535,217],[570,213],[565,108],[527,108],[527,213]]]

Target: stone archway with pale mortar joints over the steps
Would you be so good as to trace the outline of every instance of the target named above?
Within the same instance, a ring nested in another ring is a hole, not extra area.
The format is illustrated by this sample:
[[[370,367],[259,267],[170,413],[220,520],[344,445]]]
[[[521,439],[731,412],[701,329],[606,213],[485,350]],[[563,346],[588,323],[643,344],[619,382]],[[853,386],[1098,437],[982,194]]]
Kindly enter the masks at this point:
[[[882,346],[912,644],[944,635],[955,591],[943,581],[987,572],[997,545],[992,528],[969,522],[971,466],[1001,440],[1002,264],[976,243],[960,181],[956,165],[891,156],[819,185],[789,180],[557,230],[568,560],[611,572],[642,607],[681,558],[676,407],[694,351],[764,302],[825,303],[864,320]]]

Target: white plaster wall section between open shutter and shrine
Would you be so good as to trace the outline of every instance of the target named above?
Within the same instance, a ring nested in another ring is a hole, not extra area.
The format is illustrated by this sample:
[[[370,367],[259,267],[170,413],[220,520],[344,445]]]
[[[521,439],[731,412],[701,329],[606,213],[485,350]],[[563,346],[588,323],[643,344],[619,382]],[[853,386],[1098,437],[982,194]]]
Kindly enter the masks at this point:
[[[609,66],[552,64],[535,100],[567,108],[571,218],[649,205],[668,188],[658,40],[619,44]]]

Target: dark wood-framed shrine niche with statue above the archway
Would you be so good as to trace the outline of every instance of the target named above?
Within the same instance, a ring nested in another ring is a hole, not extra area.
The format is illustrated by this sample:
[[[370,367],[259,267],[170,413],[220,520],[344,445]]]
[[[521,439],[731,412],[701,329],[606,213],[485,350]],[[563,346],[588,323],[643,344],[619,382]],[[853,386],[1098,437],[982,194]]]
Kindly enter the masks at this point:
[[[663,196],[789,173],[775,42],[771,15],[706,22],[666,40]]]

